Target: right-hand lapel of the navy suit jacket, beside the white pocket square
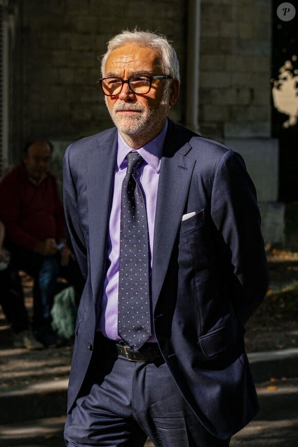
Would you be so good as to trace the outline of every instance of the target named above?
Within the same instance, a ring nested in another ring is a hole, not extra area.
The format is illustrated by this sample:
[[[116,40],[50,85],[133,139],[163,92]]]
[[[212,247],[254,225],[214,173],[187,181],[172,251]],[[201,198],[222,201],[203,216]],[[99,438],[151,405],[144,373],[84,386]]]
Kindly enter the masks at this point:
[[[178,150],[175,146],[177,139],[174,133],[165,146],[160,166],[153,246],[153,308],[169,266],[195,165],[194,159],[185,157],[191,149],[188,142],[184,142]]]

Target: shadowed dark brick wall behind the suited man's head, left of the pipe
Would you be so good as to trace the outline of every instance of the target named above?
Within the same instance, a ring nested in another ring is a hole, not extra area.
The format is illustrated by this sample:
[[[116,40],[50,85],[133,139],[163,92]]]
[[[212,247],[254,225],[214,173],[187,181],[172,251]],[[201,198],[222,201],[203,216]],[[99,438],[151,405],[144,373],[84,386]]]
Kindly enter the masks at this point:
[[[137,26],[166,34],[177,50],[183,74],[187,14],[183,0],[14,3],[13,147],[32,136],[75,140],[111,126],[97,83],[98,58],[105,52],[106,42],[122,29]],[[178,121],[181,104],[183,89],[174,111]]]

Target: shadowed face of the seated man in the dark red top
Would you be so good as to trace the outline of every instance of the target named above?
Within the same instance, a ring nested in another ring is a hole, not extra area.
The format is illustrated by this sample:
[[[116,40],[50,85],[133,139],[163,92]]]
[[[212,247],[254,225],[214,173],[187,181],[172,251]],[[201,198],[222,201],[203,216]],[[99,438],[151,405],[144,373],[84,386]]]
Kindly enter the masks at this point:
[[[48,172],[51,149],[46,141],[35,141],[28,149],[23,161],[29,177],[39,181]]]

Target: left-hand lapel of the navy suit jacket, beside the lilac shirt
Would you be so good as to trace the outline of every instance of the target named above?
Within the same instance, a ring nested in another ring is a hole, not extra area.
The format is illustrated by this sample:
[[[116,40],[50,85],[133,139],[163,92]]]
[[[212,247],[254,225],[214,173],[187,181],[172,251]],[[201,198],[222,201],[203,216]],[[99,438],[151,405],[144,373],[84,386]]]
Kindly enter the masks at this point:
[[[117,131],[100,142],[88,160],[88,213],[89,233],[92,244],[90,271],[93,296],[98,296],[105,271],[106,241],[111,193],[113,192]]]

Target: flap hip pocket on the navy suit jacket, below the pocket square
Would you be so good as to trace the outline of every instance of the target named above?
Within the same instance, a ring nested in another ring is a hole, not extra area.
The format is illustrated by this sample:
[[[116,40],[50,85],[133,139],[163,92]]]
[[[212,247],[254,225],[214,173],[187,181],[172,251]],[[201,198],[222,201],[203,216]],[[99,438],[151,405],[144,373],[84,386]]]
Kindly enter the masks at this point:
[[[230,348],[235,343],[235,336],[230,325],[222,326],[198,338],[198,344],[205,357],[213,357]]]

